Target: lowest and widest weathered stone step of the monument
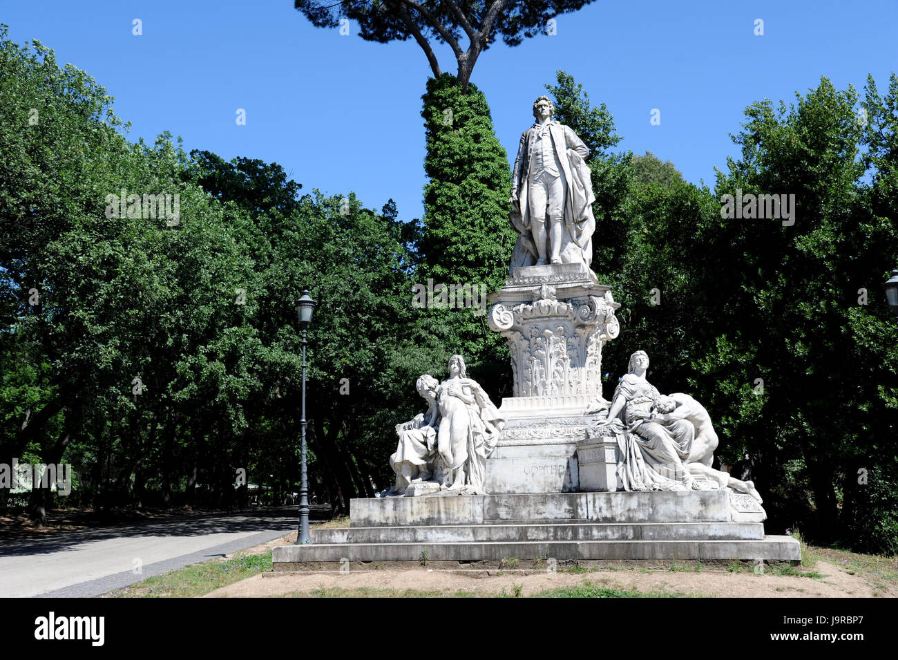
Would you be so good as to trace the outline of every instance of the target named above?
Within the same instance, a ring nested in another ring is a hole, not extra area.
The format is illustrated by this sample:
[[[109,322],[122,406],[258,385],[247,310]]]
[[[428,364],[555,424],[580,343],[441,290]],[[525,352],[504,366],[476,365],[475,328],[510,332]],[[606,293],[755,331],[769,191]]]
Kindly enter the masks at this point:
[[[288,545],[273,550],[276,571],[302,570],[307,562],[484,561],[500,559],[766,559],[798,561],[791,536],[755,541],[478,541],[469,543],[339,543]]]

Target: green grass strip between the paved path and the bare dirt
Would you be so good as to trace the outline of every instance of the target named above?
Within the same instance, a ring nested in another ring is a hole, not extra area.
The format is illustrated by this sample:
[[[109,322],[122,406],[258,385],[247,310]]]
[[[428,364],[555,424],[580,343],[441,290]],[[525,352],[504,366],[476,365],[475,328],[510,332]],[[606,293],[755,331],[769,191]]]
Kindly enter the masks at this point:
[[[189,598],[208,594],[271,570],[271,550],[263,555],[241,555],[232,559],[211,559],[201,564],[178,568],[161,576],[116,589],[110,598]]]

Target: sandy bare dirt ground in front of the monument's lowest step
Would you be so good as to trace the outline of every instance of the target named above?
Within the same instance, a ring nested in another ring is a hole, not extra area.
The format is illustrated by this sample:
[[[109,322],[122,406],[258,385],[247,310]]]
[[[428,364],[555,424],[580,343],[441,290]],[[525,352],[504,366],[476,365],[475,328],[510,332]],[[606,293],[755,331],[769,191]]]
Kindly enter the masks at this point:
[[[272,547],[295,541],[271,541],[245,553],[267,552]],[[567,572],[559,568],[545,571],[489,569],[483,571],[441,568],[380,568],[309,573],[262,573],[242,582],[216,589],[204,597],[254,598],[265,596],[315,595],[468,595],[539,594],[547,589],[584,584],[640,593],[736,598],[868,598],[898,596],[898,568],[895,559],[869,559],[841,550],[814,548],[813,568],[795,567],[795,574],[779,575],[776,568],[756,574],[750,565],[695,570],[695,562],[672,564],[671,568],[594,568]],[[873,570],[876,568],[877,570]]]

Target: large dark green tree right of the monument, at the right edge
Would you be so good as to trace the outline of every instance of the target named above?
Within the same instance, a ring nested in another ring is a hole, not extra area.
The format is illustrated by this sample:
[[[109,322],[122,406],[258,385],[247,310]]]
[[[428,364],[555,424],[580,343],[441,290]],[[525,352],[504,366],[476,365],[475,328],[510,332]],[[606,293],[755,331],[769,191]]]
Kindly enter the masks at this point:
[[[891,174],[880,130],[894,129],[894,118],[881,109],[890,102],[894,93],[868,97],[866,127],[857,92],[825,78],[788,108],[753,103],[734,138],[741,157],[718,173],[718,196],[794,195],[795,224],[718,216],[705,251],[714,277],[703,286],[719,301],[720,330],[700,368],[713,405],[731,411],[721,426],[744,439],[769,488],[785,483],[788,460],[803,462],[813,533],[823,540],[844,529],[840,500],[858,461],[894,435],[898,342],[876,304],[890,266],[883,255],[898,253],[894,201],[883,195]],[[865,163],[876,170],[872,184]]]

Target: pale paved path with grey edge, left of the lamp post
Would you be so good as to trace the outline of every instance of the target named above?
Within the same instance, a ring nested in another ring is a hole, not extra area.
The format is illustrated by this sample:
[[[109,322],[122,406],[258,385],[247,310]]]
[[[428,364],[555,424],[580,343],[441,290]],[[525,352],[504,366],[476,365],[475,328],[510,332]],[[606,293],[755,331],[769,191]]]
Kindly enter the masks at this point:
[[[95,596],[295,530],[289,509],[196,515],[0,540],[0,597]],[[135,567],[141,567],[136,573]]]

